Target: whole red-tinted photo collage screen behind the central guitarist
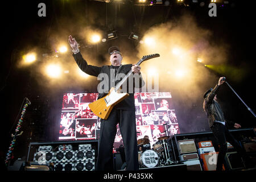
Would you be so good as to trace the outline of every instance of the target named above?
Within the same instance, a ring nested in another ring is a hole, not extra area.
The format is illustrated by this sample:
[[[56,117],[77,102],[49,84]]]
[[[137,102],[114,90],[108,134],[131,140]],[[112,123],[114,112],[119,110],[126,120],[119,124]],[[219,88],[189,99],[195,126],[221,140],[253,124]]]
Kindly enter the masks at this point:
[[[100,118],[89,104],[97,100],[98,93],[65,93],[61,110],[59,140],[99,139]],[[170,92],[135,93],[137,140],[147,135],[151,147],[159,137],[179,134],[175,109]],[[123,145],[119,125],[114,150]]]

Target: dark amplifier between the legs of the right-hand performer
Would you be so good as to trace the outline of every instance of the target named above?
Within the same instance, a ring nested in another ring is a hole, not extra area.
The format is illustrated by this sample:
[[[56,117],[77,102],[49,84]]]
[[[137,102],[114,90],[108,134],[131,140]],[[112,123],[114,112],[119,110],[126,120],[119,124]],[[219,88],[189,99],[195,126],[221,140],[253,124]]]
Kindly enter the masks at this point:
[[[243,163],[241,156],[237,154],[237,152],[226,152],[225,162],[226,166],[230,170],[245,168],[245,164]]]

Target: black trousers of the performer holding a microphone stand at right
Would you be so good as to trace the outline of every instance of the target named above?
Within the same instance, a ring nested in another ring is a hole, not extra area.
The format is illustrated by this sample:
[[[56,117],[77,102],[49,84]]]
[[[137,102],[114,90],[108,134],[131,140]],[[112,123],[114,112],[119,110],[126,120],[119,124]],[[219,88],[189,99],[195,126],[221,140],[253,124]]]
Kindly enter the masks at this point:
[[[245,151],[237,142],[237,140],[233,137],[233,135],[229,132],[225,125],[222,125],[218,122],[214,122],[211,129],[213,131],[214,137],[217,139],[218,144],[220,145],[216,171],[221,171],[222,169],[222,164],[224,163],[225,155],[228,150],[226,141],[228,141],[230,144],[232,144],[234,148],[236,148],[238,154],[240,154],[241,156],[245,156]]]

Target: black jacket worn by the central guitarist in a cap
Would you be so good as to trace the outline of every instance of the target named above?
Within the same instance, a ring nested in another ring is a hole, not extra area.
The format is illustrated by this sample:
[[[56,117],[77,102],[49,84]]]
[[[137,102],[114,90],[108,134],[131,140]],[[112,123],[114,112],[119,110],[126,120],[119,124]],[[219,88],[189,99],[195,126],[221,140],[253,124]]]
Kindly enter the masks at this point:
[[[98,99],[106,96],[106,94],[108,94],[108,91],[111,89],[111,86],[116,85],[120,81],[120,80],[115,81],[115,80],[113,80],[114,76],[113,75],[110,76],[111,75],[110,69],[112,68],[112,66],[104,65],[102,67],[96,67],[93,65],[88,65],[86,60],[84,60],[84,58],[82,57],[80,52],[76,53],[76,54],[73,53],[73,57],[75,58],[76,63],[79,66],[79,68],[86,74],[91,75],[91,76],[96,76],[96,77],[98,77],[98,75],[100,75],[100,73],[106,73],[106,75],[108,75],[108,77],[104,77],[104,74],[101,75],[104,78],[103,81],[107,81],[105,83],[106,83],[106,85],[108,85],[108,88],[104,88],[104,86],[102,87],[105,90],[105,93],[99,93]],[[126,75],[126,73],[128,73],[131,70],[131,67],[132,67],[132,64],[121,65],[119,67],[117,73],[124,73]],[[128,81],[129,81],[129,78],[127,79],[126,82],[128,82]],[[128,84],[126,84],[126,85],[128,86]],[[144,85],[144,81],[140,74],[139,75],[139,84],[137,87],[141,88],[143,85]],[[133,85],[133,86],[135,87],[135,85]],[[133,89],[134,89],[134,87],[133,87]],[[119,102],[117,105],[114,106],[114,108],[115,109],[135,110],[134,93],[129,93],[129,97],[127,97],[127,98],[125,98],[125,100]]]

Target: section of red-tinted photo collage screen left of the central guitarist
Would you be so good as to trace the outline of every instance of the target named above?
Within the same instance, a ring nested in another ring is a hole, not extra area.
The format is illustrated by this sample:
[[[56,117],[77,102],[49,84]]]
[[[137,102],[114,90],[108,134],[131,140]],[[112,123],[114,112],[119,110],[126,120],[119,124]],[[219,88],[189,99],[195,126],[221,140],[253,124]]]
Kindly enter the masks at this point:
[[[59,140],[96,139],[98,117],[89,108],[98,93],[64,93]]]

